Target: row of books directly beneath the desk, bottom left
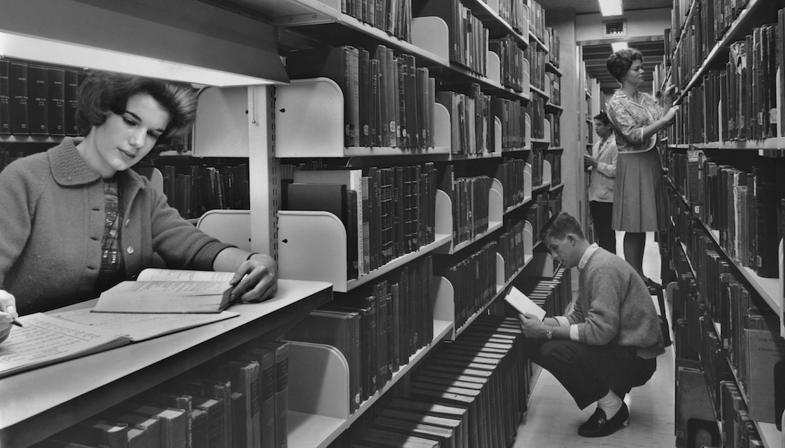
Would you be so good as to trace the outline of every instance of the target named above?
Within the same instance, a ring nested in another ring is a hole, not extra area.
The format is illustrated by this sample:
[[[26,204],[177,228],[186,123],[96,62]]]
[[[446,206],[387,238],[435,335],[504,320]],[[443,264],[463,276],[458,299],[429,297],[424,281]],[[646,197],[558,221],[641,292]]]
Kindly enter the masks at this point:
[[[34,446],[284,448],[288,350],[252,340]]]

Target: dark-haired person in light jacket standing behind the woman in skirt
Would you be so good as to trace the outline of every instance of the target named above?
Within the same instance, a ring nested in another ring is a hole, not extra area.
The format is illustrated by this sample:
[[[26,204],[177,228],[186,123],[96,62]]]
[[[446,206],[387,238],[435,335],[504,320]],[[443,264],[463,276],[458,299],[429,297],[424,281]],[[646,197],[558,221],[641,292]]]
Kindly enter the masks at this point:
[[[597,244],[616,253],[616,233],[611,226],[613,217],[613,182],[616,177],[616,138],[608,114],[594,116],[594,131],[600,137],[591,154],[583,155],[583,166],[591,171],[589,183],[589,210],[594,222]]]

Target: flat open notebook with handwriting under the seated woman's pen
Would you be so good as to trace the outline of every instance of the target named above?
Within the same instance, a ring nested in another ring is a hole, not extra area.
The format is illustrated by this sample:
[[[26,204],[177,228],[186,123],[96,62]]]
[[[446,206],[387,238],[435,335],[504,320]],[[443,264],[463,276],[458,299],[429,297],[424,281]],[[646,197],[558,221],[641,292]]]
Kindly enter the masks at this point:
[[[0,377],[111,350],[239,316],[218,314],[91,313],[92,308],[29,314],[0,343]]]

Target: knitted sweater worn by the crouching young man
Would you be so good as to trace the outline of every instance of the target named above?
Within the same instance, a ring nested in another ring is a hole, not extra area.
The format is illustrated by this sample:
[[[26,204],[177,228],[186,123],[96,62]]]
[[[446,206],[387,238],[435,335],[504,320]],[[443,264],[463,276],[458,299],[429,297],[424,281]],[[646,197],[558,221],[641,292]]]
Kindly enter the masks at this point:
[[[637,347],[637,356],[665,352],[657,310],[641,277],[629,263],[602,248],[580,270],[578,299],[567,316],[589,345]]]

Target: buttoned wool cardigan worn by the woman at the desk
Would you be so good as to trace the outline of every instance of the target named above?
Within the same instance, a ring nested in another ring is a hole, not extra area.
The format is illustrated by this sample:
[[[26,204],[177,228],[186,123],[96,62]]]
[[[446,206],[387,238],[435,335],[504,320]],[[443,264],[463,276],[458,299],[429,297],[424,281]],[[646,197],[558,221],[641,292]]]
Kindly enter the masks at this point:
[[[10,163],[0,173],[0,289],[19,314],[92,299],[104,237],[104,182],[75,143]],[[146,178],[117,174],[120,248],[126,277],[152,266],[153,251],[175,268],[212,270],[230,244],[208,237],[166,204]]]

